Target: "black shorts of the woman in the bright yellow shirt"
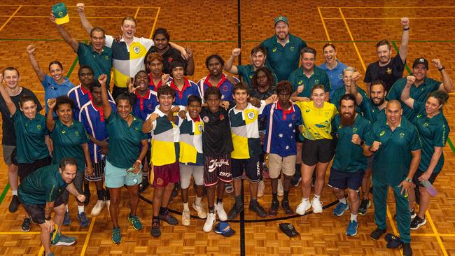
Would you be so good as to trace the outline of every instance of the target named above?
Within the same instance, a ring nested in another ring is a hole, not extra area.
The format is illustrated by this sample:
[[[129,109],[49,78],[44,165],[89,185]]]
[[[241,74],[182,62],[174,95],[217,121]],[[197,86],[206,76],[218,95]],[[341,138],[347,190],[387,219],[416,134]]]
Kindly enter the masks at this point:
[[[332,140],[322,138],[311,141],[305,139],[302,144],[302,162],[306,165],[314,165],[318,162],[328,163],[335,154]]]

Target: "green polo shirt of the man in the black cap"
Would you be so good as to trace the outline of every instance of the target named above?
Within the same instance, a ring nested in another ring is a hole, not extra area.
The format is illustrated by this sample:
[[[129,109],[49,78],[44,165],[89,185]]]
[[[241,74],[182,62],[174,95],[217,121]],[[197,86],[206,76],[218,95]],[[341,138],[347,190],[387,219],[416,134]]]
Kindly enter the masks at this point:
[[[405,85],[406,78],[398,79],[391,87],[390,92],[387,93],[386,99],[388,101],[391,101],[392,99],[397,99],[398,101],[400,101],[401,106],[403,108],[403,115],[407,118],[407,120],[414,120],[417,114],[414,111],[412,111],[412,108],[409,108],[408,106],[406,106],[406,104],[404,104],[401,101],[401,93],[405,88]],[[419,87],[416,87],[416,85],[412,84],[410,92],[411,98],[416,101],[425,102],[426,98],[428,97],[428,94],[430,92],[438,90],[440,85],[441,82],[437,80],[425,78],[425,80],[423,80],[423,83],[419,85]]]

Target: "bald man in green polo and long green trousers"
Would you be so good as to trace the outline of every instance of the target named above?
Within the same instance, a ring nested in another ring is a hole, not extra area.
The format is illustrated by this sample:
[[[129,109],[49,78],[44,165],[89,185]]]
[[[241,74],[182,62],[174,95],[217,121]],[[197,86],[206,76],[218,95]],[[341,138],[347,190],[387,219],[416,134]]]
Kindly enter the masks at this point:
[[[363,154],[367,157],[374,155],[372,182],[377,229],[370,237],[377,240],[386,233],[387,192],[391,186],[395,195],[403,255],[412,255],[407,193],[412,189],[412,177],[419,166],[421,143],[416,127],[402,118],[402,112],[399,101],[388,101],[386,120],[379,120],[372,125],[363,145]]]

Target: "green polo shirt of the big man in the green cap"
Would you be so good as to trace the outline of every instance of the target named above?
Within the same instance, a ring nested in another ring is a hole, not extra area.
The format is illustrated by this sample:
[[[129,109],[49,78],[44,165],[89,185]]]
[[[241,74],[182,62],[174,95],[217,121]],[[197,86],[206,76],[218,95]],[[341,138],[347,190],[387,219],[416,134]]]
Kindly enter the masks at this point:
[[[260,45],[267,50],[267,66],[276,73],[278,81],[286,80],[290,72],[297,69],[300,62],[300,50],[307,47],[307,43],[301,38],[289,35],[286,45],[278,43],[276,35],[265,39]]]

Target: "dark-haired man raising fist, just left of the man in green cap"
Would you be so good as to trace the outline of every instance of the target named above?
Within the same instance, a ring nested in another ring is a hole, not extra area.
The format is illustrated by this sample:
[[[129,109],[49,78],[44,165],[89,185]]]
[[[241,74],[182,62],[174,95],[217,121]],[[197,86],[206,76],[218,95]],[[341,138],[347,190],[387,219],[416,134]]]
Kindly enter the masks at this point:
[[[267,51],[261,45],[255,46],[251,50],[251,64],[248,65],[233,65],[235,57],[240,55],[240,48],[235,48],[232,50],[232,55],[228,59],[228,62],[225,63],[224,70],[235,75],[239,74],[243,81],[248,85],[248,87],[253,88],[252,81],[255,71],[259,68],[265,66],[265,59],[267,59]],[[277,79],[276,75],[272,72],[273,82],[276,84]]]

